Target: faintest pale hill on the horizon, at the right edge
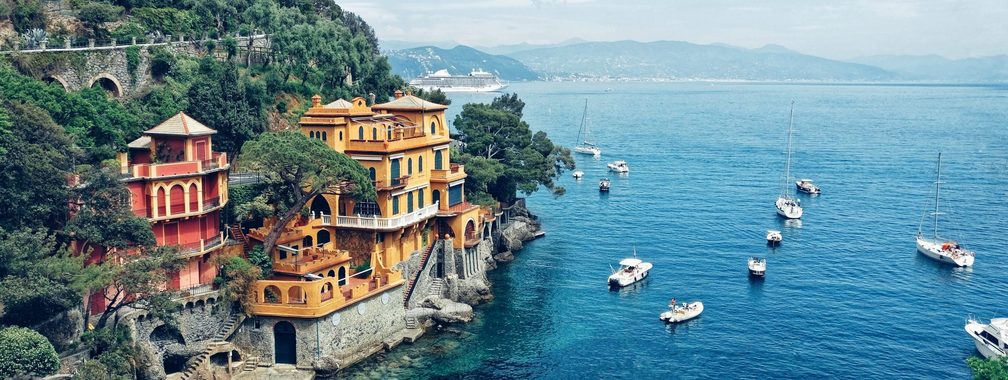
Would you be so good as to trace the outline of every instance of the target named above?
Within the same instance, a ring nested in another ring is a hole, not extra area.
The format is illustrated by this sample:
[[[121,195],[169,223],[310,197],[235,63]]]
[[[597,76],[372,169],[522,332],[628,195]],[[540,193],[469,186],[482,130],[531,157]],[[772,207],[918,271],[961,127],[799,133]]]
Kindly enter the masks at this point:
[[[1008,55],[949,59],[939,55],[874,55],[852,59],[925,82],[1008,82]]]

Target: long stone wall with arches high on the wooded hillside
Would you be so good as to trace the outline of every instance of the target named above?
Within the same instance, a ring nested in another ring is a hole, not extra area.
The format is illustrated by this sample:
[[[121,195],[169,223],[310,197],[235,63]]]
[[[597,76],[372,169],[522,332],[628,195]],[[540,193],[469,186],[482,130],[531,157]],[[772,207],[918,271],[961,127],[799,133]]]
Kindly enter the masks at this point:
[[[253,50],[264,51],[267,47],[268,39],[265,34],[252,36],[240,36],[235,38],[239,45],[239,55],[248,54],[249,39],[252,40]],[[130,97],[142,93],[142,90],[152,82],[150,73],[150,55],[152,48],[163,46],[165,49],[175,53],[197,54],[205,50],[206,40],[184,40],[179,38],[170,42],[140,43],[140,44],[112,44],[108,46],[89,45],[86,47],[71,47],[69,45],[61,48],[37,48],[26,50],[5,50],[0,54],[17,58],[18,55],[47,54],[47,60],[53,62],[45,68],[38,69],[38,73],[30,73],[36,79],[48,83],[55,83],[67,91],[79,91],[101,87],[112,97]],[[221,42],[218,41],[218,51],[221,49]],[[130,71],[127,58],[127,49],[130,46],[137,46],[139,49],[139,61],[136,70]],[[220,52],[218,53],[220,55]]]

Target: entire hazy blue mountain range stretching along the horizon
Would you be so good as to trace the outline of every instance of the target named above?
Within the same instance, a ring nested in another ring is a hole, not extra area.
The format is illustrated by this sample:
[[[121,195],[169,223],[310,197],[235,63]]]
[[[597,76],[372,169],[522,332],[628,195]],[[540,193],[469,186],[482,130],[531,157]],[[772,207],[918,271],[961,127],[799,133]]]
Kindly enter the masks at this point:
[[[438,44],[452,44],[443,41]],[[382,42],[408,46],[415,42]],[[485,51],[491,51],[495,55]],[[803,54],[780,45],[745,48],[683,41],[519,43],[476,49],[422,46],[386,51],[394,72],[411,79],[448,69],[495,73],[507,81],[710,80],[771,82],[1008,83],[1008,55],[949,59],[938,55],[876,55],[850,61]]]

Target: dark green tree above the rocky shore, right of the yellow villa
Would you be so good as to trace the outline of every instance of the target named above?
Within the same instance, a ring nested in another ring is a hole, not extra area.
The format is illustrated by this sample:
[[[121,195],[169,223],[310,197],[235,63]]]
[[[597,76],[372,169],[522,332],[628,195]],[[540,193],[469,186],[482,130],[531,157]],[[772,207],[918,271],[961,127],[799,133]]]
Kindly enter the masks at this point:
[[[528,195],[539,186],[563,194],[553,179],[574,168],[571,151],[553,145],[545,132],[533,134],[521,120],[524,105],[517,95],[506,94],[491,104],[467,104],[456,116],[458,139],[464,146],[459,161],[471,174],[467,187],[474,198],[482,198],[479,192],[485,189],[496,200],[512,201],[516,192]]]

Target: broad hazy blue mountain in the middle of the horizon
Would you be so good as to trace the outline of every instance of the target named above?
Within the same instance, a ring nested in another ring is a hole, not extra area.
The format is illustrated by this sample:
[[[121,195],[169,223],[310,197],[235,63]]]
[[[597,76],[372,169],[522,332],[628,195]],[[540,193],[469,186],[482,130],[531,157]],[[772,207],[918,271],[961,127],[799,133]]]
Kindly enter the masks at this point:
[[[890,81],[882,69],[821,58],[778,45],[747,49],[681,41],[586,42],[511,56],[548,78],[747,81]]]

